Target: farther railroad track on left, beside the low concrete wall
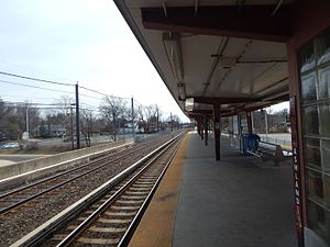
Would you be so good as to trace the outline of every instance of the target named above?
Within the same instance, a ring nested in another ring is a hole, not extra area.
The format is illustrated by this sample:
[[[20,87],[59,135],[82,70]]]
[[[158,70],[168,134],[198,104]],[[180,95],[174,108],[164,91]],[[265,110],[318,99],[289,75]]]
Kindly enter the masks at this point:
[[[134,153],[140,153],[150,145],[155,145],[155,143],[146,142],[141,145],[133,145],[121,151],[102,156],[82,166],[77,166],[30,183],[25,187],[0,194],[0,215],[10,212],[45,193],[52,192],[59,187],[80,179],[81,177],[89,176],[90,173],[103,169],[107,166],[111,166],[112,164],[121,160],[123,157],[133,155]]]

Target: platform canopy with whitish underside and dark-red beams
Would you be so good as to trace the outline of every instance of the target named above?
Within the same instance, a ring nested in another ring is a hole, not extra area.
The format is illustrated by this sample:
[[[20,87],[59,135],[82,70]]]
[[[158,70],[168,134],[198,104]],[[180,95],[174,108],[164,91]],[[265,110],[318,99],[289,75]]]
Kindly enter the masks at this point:
[[[114,0],[187,115],[288,100],[293,0]]]

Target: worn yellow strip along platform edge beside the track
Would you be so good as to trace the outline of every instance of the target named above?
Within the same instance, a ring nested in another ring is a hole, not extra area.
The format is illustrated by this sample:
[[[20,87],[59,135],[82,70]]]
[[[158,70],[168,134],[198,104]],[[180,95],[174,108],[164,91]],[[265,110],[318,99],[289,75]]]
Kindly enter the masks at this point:
[[[164,175],[129,247],[172,247],[179,181],[189,134]]]

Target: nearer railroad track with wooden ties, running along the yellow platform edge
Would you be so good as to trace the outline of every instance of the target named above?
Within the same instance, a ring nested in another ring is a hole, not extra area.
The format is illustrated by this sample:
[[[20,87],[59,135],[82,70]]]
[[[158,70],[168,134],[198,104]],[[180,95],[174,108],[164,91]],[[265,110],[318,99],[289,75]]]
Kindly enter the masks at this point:
[[[168,141],[13,246],[125,246],[182,138]]]

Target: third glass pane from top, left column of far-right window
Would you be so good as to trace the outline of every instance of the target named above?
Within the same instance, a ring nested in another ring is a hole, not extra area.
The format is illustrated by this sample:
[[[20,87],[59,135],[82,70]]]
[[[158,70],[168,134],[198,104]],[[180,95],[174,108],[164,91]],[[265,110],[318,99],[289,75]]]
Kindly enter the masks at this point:
[[[318,106],[311,105],[304,109],[304,131],[307,135],[319,135]]]

